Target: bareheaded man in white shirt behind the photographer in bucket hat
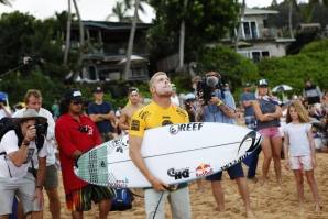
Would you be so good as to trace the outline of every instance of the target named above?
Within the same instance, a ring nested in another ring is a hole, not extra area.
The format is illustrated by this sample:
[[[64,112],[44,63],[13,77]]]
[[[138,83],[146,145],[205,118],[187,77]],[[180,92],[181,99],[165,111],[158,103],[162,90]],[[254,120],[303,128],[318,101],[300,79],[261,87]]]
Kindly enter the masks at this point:
[[[53,114],[42,108],[42,95],[40,90],[36,89],[30,89],[26,91],[24,96],[24,103],[25,108],[15,111],[12,117],[22,117],[25,110],[28,109],[34,109],[39,116],[44,117],[47,119],[47,130],[46,130],[46,139],[45,139],[45,147],[47,151],[46,155],[46,175],[44,180],[44,188],[46,191],[46,195],[50,200],[50,210],[52,213],[53,219],[59,219],[61,218],[61,200],[58,196],[58,169],[56,167],[56,156],[55,153],[57,149],[55,149],[52,144],[52,140],[55,139],[55,121],[53,119]],[[33,157],[32,162],[30,163],[30,172],[35,172],[35,169],[39,168],[39,163],[36,156]],[[19,208],[20,209],[20,208]],[[19,219],[26,218],[22,210],[19,210]]]

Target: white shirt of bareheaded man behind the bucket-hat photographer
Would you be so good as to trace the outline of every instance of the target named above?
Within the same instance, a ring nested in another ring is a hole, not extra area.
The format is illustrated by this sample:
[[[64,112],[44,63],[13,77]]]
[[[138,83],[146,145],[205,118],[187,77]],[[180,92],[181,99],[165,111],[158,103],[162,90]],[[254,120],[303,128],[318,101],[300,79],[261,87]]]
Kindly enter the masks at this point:
[[[26,108],[23,108],[21,110],[15,111],[12,117],[22,117],[23,112],[26,110]],[[46,141],[44,141],[46,144],[44,144],[46,146],[47,150],[47,155],[46,155],[46,165],[53,165],[56,162],[56,149],[53,146],[51,140],[55,140],[55,121],[53,118],[53,114],[47,111],[46,109],[40,108],[39,110],[39,116],[40,117],[45,117],[47,119],[47,133],[46,133]],[[37,164],[37,157],[33,157],[33,165],[34,168],[37,168],[39,164]]]

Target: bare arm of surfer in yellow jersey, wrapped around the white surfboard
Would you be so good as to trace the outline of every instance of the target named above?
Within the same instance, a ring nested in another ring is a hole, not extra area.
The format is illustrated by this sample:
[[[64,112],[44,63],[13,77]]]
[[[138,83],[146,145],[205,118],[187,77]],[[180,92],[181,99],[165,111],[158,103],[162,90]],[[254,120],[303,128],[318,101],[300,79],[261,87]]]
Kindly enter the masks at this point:
[[[155,190],[166,190],[165,187],[168,187],[168,185],[165,182],[161,180],[160,178],[156,178],[145,165],[144,158],[140,153],[142,140],[143,139],[141,136],[129,135],[129,149],[130,149],[129,155],[132,162],[134,163],[134,165],[144,175],[144,177],[152,184]]]

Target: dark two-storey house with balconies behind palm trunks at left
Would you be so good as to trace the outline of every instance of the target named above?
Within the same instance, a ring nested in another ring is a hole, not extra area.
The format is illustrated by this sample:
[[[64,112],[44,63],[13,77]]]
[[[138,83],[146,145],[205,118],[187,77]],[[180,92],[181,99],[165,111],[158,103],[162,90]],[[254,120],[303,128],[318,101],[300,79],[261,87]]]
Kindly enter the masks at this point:
[[[81,58],[86,67],[84,67],[77,81],[94,83],[120,79],[125,68],[121,61],[127,58],[131,23],[83,21],[83,25],[85,43],[89,43],[91,50],[84,51]],[[147,61],[150,53],[146,32],[151,26],[152,24],[136,23],[132,55],[139,57],[139,62],[131,61],[130,80],[149,79]],[[70,32],[70,47],[79,47],[78,29]]]

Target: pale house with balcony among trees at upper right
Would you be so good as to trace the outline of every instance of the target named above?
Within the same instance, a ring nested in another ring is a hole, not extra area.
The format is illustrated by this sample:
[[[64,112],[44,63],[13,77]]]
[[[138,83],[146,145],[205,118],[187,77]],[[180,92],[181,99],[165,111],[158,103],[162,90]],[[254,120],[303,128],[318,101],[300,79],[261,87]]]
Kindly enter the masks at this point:
[[[281,57],[286,55],[285,46],[295,39],[282,37],[281,31],[267,25],[267,18],[278,11],[245,9],[241,18],[241,30],[238,53],[251,58],[254,63],[262,57]],[[230,30],[221,43],[234,47],[237,28]]]

